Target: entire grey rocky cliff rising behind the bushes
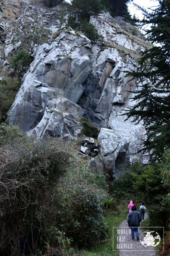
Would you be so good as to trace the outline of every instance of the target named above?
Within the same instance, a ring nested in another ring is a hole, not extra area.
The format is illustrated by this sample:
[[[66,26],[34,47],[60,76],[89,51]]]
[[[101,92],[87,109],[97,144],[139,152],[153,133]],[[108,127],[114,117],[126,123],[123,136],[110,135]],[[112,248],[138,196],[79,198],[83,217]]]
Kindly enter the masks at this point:
[[[91,42],[83,33],[65,28],[67,13],[60,24],[60,10],[68,5],[62,2],[45,8],[29,0],[2,1],[0,58],[4,68],[7,57],[18,47],[12,44],[18,24],[22,28],[33,17],[43,17],[52,35],[60,30],[51,42],[37,45],[6,122],[37,138],[48,133],[76,140],[82,136],[80,118],[89,119],[101,128],[100,153],[89,167],[109,173],[112,180],[121,165],[148,159],[136,154],[145,137],[142,124],[124,122],[121,115],[135,103],[130,91],[138,89],[125,71],[137,68],[136,60],[148,43],[135,27],[108,13],[90,18],[101,36],[98,42]]]

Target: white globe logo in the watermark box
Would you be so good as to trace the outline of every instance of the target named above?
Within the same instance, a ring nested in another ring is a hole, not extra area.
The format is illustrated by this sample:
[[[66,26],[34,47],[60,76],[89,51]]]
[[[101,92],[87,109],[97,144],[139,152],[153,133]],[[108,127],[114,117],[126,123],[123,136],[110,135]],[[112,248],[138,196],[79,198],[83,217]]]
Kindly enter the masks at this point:
[[[156,231],[145,231],[140,235],[140,242],[145,247],[155,247],[160,243],[160,236]]]

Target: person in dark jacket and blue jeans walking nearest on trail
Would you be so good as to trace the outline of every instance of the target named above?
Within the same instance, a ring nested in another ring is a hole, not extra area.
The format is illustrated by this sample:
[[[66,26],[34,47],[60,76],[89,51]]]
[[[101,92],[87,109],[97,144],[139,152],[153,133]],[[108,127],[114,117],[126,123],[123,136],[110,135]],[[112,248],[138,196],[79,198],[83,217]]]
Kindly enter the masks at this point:
[[[128,226],[131,227],[132,240],[135,240],[134,232],[136,234],[137,240],[139,240],[138,227],[140,225],[141,220],[142,216],[137,211],[136,207],[132,206],[132,212],[129,213],[127,218]]]

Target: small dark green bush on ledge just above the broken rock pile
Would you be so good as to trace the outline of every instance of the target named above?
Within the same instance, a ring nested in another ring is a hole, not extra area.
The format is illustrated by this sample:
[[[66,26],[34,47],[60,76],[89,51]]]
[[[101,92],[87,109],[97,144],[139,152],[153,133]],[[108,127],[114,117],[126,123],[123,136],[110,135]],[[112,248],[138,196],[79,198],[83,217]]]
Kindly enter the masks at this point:
[[[92,124],[88,119],[81,118],[80,122],[83,125],[82,132],[88,137],[97,139],[100,129]]]

